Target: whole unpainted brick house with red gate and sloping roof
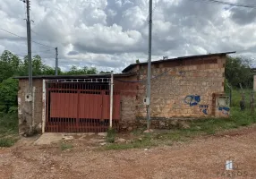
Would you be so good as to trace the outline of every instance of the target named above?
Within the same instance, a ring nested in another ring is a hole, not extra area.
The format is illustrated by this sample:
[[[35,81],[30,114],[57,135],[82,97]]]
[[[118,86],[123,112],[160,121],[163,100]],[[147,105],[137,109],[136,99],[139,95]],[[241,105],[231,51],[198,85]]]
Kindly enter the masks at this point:
[[[152,62],[150,115],[155,128],[174,119],[229,116],[224,93],[226,52]],[[106,132],[110,117],[110,74],[34,76],[19,79],[21,134],[31,132]],[[132,129],[146,122],[147,63],[130,64],[114,74],[113,124]],[[32,110],[30,110],[30,108]],[[30,112],[32,111],[32,112]]]

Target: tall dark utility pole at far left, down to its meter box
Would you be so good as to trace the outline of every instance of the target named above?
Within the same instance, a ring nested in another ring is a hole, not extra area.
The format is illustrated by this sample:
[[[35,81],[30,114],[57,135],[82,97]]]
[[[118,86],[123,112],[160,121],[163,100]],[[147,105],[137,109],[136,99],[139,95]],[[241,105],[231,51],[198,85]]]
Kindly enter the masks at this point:
[[[27,4],[27,39],[28,39],[28,58],[29,58],[29,87],[32,94],[32,55],[31,55],[31,29],[30,29],[30,0],[24,0]]]

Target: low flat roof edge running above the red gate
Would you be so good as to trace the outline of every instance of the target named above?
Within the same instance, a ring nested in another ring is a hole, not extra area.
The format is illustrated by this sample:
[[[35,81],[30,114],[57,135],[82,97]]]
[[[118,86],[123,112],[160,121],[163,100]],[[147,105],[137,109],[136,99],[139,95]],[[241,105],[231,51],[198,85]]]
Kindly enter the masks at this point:
[[[115,77],[132,76],[133,73],[116,73]],[[110,78],[111,73],[86,74],[86,75],[38,75],[32,76],[33,79],[87,79],[87,78]],[[29,76],[16,76],[13,79],[28,79]]]

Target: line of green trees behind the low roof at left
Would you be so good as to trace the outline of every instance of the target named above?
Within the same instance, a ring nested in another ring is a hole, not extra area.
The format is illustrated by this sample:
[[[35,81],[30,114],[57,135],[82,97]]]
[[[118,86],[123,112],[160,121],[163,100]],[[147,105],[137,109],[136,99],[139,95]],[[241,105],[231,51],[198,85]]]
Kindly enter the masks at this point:
[[[38,75],[55,75],[55,68],[44,64],[39,55],[34,55],[32,58],[32,74]],[[69,71],[64,72],[58,68],[59,75],[81,75],[109,73],[98,72],[95,67],[83,66],[78,68],[72,66]],[[19,90],[18,80],[13,79],[14,76],[28,76],[29,74],[29,59],[25,55],[21,59],[18,55],[5,50],[0,55],[0,115],[5,113],[13,113],[17,111],[17,93]]]

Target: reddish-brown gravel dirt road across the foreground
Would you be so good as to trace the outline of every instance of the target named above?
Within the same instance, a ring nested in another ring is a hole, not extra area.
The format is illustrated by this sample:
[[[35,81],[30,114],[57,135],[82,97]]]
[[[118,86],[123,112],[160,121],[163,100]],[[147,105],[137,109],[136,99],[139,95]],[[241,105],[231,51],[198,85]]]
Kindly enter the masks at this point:
[[[0,149],[0,178],[256,178],[255,146],[255,126],[147,150],[20,143]],[[225,170],[227,159],[235,170]]]

